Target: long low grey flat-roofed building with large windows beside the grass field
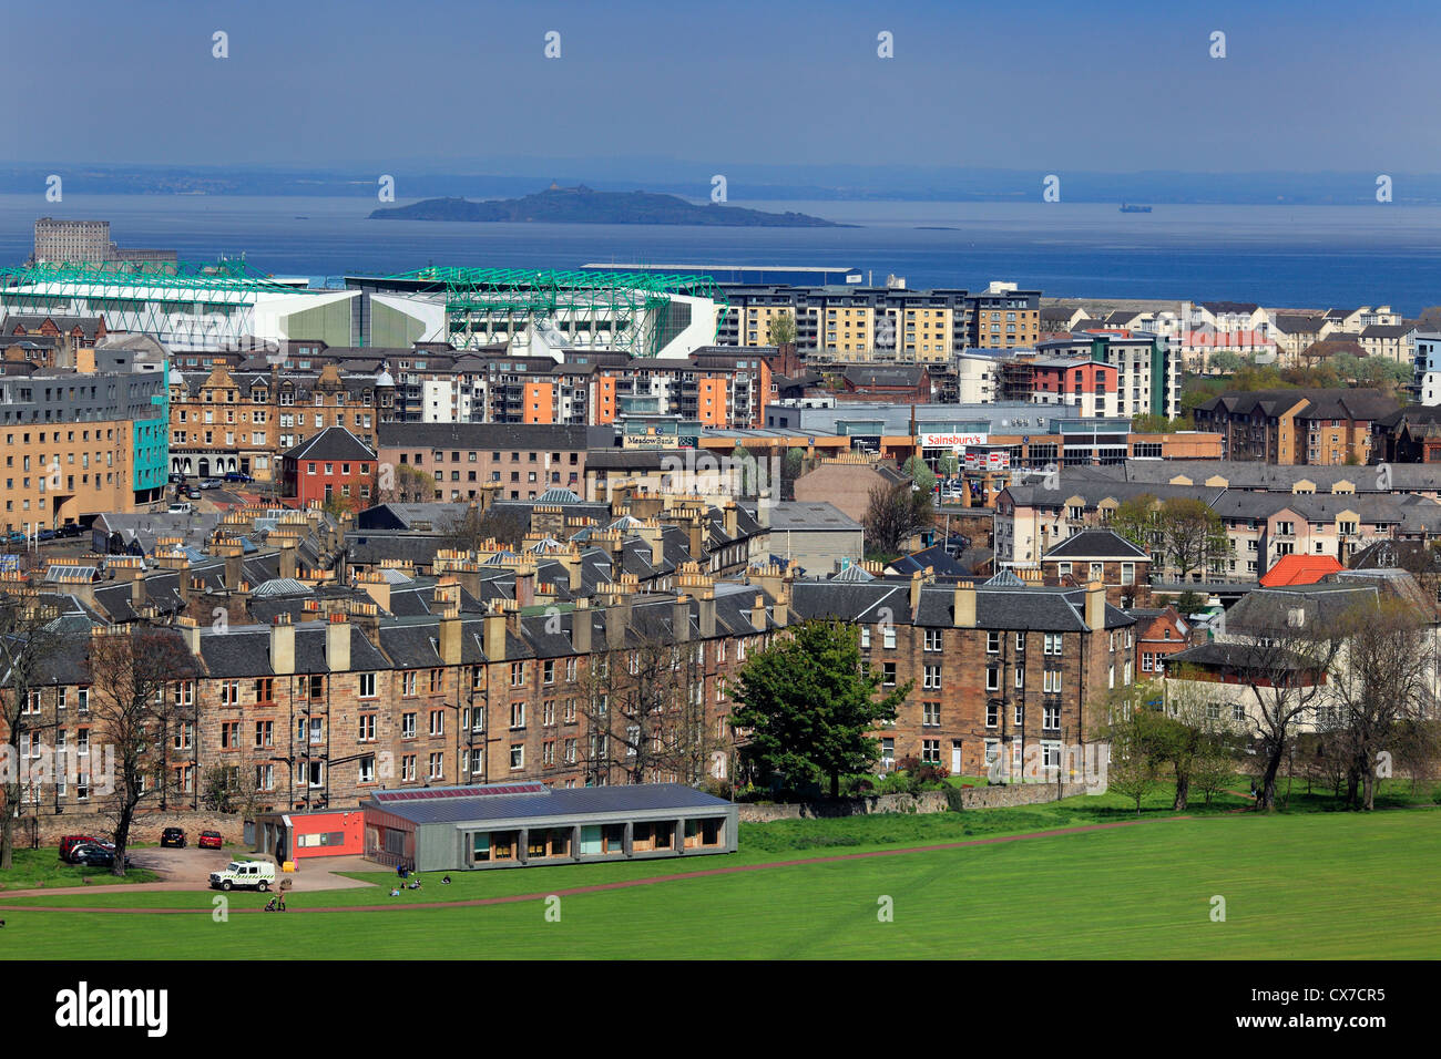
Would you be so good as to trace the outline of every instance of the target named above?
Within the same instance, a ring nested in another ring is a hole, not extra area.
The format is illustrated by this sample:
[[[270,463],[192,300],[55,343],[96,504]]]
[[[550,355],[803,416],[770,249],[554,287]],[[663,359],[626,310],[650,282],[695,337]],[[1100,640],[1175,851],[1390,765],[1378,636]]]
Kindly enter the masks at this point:
[[[683,784],[542,782],[380,791],[365,856],[416,872],[735,853],[736,807]]]

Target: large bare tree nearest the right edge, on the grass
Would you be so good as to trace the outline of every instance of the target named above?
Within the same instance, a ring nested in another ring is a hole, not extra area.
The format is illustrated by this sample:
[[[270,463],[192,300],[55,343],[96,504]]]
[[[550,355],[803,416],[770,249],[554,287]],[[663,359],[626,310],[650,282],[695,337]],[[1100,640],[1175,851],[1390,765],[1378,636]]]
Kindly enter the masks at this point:
[[[1360,604],[1336,621],[1343,647],[1330,679],[1323,719],[1340,736],[1349,761],[1347,801],[1376,808],[1382,754],[1392,754],[1399,732],[1434,713],[1434,637],[1422,615],[1398,599]]]

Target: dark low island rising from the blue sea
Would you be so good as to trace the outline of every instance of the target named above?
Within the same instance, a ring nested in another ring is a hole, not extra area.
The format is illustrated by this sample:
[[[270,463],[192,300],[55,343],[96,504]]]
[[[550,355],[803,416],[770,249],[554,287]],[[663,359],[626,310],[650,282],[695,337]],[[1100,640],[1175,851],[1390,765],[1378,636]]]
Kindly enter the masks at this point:
[[[741,206],[696,206],[674,195],[549,187],[523,199],[425,199],[372,210],[372,220],[539,220],[552,225],[708,225],[725,228],[853,228],[807,213],[765,213]]]

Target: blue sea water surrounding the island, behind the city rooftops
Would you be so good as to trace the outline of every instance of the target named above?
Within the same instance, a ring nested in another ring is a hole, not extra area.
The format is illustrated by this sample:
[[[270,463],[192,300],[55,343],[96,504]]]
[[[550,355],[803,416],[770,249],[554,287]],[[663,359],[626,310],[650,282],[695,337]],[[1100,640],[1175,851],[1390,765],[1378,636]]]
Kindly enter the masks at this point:
[[[369,220],[370,199],[0,196],[0,265],[30,252],[39,216],[111,220],[121,246],[186,259],[244,252],[262,272],[342,277],[427,264],[575,268],[586,262],[827,265],[912,288],[1009,280],[1056,297],[1441,304],[1441,207],[1095,203],[732,202],[860,225],[840,229],[481,225]],[[942,229],[942,231],[937,231]]]

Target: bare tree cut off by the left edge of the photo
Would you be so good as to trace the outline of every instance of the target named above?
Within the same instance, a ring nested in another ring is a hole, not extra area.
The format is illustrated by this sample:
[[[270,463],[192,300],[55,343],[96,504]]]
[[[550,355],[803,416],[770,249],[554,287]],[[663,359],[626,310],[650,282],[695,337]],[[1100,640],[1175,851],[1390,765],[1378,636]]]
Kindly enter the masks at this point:
[[[14,863],[14,821],[19,816],[22,774],[20,743],[32,738],[32,693],[50,680],[55,656],[63,647],[59,612],[10,592],[0,594],[0,723],[6,742],[0,748],[4,801],[0,804],[0,870]]]

